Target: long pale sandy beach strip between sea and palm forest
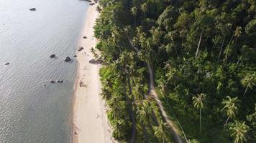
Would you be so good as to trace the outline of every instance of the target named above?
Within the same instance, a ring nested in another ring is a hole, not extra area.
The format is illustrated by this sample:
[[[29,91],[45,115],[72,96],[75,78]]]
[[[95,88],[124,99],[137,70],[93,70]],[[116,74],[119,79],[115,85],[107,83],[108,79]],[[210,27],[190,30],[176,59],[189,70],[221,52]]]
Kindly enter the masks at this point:
[[[77,51],[78,71],[73,104],[73,142],[74,143],[109,143],[112,142],[111,129],[106,117],[104,101],[101,100],[101,82],[99,81],[100,64],[91,64],[91,47],[96,46],[93,37],[93,25],[99,13],[97,4],[89,6],[86,21],[81,32]],[[83,39],[86,36],[86,39]],[[83,82],[83,86],[80,83]]]

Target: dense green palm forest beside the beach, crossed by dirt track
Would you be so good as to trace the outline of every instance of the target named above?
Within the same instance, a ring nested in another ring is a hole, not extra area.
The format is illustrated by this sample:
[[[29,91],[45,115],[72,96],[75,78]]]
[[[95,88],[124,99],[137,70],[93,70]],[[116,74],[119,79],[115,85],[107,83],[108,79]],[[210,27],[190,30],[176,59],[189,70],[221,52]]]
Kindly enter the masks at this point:
[[[101,0],[99,9],[95,56],[116,140],[256,142],[254,0]]]

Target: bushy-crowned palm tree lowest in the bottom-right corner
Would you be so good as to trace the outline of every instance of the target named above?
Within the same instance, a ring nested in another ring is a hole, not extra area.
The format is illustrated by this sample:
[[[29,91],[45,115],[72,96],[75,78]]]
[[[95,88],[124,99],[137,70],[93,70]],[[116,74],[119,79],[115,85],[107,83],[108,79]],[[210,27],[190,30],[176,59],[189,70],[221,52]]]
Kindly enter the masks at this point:
[[[229,128],[231,134],[230,137],[234,137],[234,143],[243,143],[247,142],[245,134],[250,128],[245,124],[245,122],[235,121],[231,124]]]

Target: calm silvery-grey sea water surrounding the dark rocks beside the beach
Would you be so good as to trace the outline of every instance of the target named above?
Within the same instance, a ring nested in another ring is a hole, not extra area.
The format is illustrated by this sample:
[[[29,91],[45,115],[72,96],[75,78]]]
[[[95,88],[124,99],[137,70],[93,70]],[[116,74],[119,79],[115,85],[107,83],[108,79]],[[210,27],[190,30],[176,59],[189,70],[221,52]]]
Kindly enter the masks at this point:
[[[73,55],[87,7],[79,0],[0,0],[0,143],[71,142]]]

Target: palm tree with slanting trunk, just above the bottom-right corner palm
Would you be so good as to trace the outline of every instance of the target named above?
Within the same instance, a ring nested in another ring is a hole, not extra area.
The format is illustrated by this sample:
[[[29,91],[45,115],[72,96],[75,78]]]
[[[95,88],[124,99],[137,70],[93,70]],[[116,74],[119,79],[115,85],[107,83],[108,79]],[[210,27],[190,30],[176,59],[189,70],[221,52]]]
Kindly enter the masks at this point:
[[[236,103],[238,102],[237,97],[235,98],[231,98],[229,96],[227,96],[227,99],[224,99],[223,102],[221,104],[224,104],[224,107],[222,108],[222,110],[226,110],[226,114],[228,116],[225,125],[227,124],[227,122],[229,121],[229,118],[234,119],[234,117],[237,114],[237,106]]]

